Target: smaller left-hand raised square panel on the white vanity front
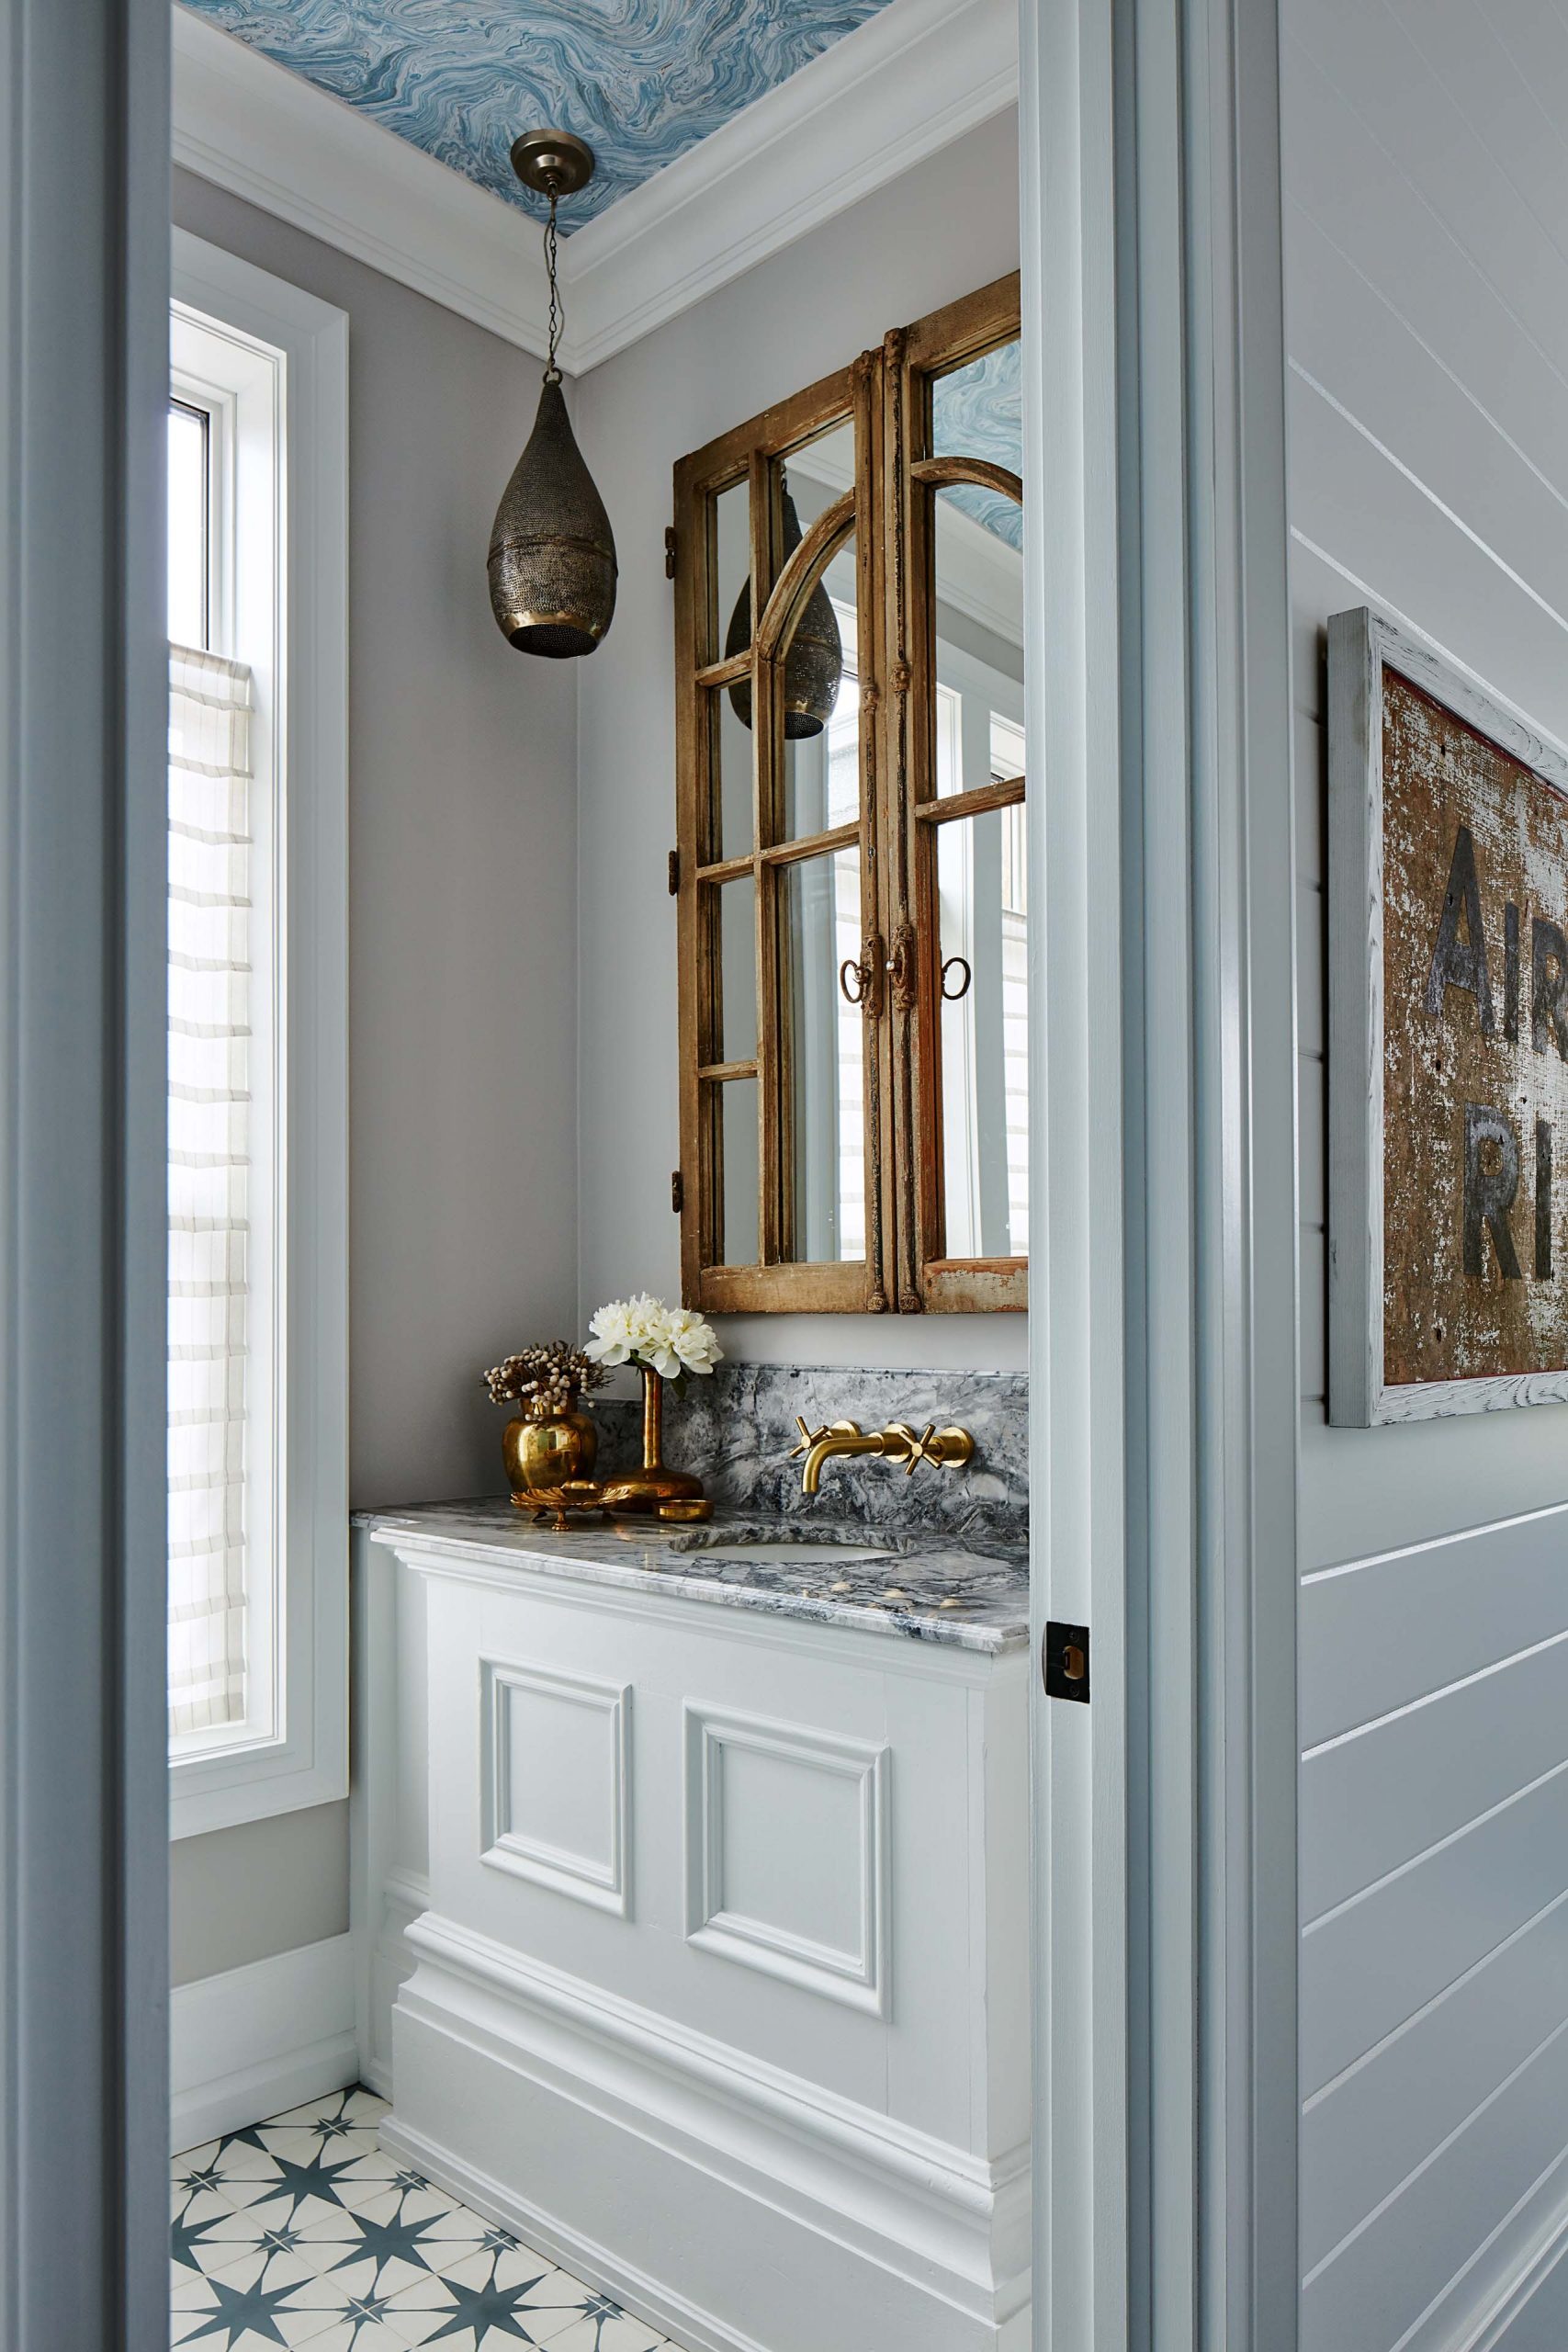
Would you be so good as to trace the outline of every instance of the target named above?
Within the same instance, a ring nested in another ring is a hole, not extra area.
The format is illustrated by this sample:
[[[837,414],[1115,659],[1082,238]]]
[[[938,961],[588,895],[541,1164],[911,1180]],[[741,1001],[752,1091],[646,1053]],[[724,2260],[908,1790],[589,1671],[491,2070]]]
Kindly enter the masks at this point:
[[[480,1860],[618,1919],[630,1917],[630,1715],[625,1682],[480,1658]],[[534,1788],[557,1811],[585,1797],[602,1828],[592,1846],[569,1842],[569,1830],[583,1832],[581,1818],[562,1823],[559,1837],[548,1835],[548,1813],[524,1818],[527,1792],[517,1788],[524,1740],[529,1729],[543,1733],[550,1717],[557,1740],[576,1731],[583,1745],[576,1757],[559,1757],[564,1769],[550,1783],[541,1778]]]

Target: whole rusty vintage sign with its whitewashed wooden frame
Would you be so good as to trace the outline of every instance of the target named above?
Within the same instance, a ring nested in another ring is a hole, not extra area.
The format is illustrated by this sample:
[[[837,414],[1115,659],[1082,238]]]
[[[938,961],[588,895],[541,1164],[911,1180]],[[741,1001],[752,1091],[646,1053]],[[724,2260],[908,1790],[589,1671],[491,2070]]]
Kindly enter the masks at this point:
[[[1328,623],[1328,1418],[1568,1397],[1568,757]]]

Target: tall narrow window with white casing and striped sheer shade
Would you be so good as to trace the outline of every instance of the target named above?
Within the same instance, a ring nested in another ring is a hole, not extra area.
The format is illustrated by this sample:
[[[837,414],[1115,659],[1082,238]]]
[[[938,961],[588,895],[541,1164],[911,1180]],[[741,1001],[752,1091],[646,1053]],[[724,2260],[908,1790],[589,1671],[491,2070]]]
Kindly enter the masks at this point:
[[[195,238],[169,332],[174,1835],[348,1788],[346,320]]]

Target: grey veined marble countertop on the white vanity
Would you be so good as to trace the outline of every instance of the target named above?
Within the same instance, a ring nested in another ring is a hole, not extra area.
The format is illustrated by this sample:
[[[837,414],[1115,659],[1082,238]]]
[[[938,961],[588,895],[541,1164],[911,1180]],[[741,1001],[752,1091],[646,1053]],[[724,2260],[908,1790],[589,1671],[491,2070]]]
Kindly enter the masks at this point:
[[[536,1526],[503,1496],[477,1503],[409,1503],[355,1512],[374,1538],[400,1536],[503,1557],[531,1576],[656,1590],[677,1599],[757,1609],[769,1616],[853,1625],[947,1649],[1001,1653],[1030,1637],[1030,1564],[1023,1550],[985,1550],[919,1529],[844,1519],[715,1510],[703,1526],[646,1519]],[[719,1548],[797,1538],[813,1550],[872,1550],[875,1559],[717,1559]]]

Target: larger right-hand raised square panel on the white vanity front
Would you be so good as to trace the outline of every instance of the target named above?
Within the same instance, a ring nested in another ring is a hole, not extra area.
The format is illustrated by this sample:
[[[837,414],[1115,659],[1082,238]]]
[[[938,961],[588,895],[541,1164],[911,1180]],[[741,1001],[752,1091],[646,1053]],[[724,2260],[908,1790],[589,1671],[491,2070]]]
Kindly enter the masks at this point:
[[[884,2018],[889,1750],[696,1703],[684,1724],[686,1943]],[[811,1778],[825,1788],[813,1792]],[[759,1879],[771,1882],[773,1917],[757,1910]],[[790,1900],[802,1905],[795,1924]]]

